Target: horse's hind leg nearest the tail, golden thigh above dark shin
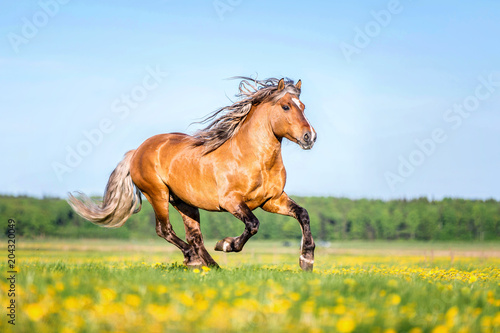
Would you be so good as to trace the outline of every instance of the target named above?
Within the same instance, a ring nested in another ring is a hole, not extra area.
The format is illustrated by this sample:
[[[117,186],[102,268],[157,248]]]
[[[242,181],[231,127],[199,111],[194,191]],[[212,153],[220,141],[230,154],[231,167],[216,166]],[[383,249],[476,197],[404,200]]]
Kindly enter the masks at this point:
[[[162,191],[162,193],[155,196],[149,195],[147,193],[144,193],[144,195],[151,203],[155,211],[156,233],[158,234],[158,236],[164,238],[167,242],[174,244],[177,248],[179,248],[179,250],[182,251],[182,254],[184,255],[185,265],[201,266],[201,258],[195,252],[194,248],[177,237],[174,229],[172,228],[172,225],[170,224],[170,219],[168,217],[168,190]]]

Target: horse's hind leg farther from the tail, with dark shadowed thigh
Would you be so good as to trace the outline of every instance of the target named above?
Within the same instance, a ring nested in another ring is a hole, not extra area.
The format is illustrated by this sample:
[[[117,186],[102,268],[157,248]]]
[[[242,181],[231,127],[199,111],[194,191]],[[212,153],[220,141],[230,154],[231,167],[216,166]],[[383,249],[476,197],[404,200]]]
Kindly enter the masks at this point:
[[[175,198],[171,203],[182,216],[186,229],[186,240],[200,256],[203,264],[219,267],[203,244],[203,236],[200,230],[200,211],[198,208],[190,206],[178,198]]]

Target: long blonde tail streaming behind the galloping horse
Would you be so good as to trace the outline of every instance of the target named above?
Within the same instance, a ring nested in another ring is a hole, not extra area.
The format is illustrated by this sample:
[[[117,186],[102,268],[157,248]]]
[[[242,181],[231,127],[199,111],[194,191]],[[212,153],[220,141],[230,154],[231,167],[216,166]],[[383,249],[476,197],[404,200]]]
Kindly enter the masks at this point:
[[[102,203],[96,204],[81,192],[77,192],[76,197],[69,193],[68,203],[78,215],[101,227],[118,228],[141,210],[141,192],[130,176],[130,160],[134,151],[127,152],[109,176]]]

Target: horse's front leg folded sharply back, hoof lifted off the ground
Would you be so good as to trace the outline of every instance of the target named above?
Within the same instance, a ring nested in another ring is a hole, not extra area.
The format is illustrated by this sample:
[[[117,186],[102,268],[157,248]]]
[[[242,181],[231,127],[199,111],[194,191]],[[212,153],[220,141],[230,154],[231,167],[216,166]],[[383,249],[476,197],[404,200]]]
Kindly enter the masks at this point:
[[[245,231],[239,237],[226,237],[215,244],[216,251],[240,252],[245,243],[259,230],[259,220],[239,197],[228,198],[224,209],[245,223]]]

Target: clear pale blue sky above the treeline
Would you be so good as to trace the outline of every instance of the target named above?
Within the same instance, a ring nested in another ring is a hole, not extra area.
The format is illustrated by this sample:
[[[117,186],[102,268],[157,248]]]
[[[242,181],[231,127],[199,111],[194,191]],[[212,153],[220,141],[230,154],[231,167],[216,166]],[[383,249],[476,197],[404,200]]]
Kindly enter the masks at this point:
[[[497,1],[0,8],[2,194],[102,194],[126,151],[193,133],[234,99],[226,78],[258,74],[302,79],[318,132],[284,143],[288,193],[500,199]]]

